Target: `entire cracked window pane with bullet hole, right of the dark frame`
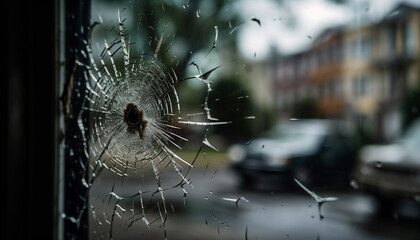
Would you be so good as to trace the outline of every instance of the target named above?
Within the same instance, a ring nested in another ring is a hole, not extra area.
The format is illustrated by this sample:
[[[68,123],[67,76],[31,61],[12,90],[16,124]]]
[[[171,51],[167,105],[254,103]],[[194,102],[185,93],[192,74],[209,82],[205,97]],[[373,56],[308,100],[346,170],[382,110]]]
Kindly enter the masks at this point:
[[[92,1],[64,109],[86,193],[61,218],[90,239],[417,239],[420,6],[390,2]]]

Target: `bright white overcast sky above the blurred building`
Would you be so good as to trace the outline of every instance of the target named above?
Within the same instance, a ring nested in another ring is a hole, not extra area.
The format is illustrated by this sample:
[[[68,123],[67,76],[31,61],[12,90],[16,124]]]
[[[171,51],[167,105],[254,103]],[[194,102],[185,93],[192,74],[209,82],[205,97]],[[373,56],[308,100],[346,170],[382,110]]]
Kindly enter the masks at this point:
[[[308,47],[322,30],[342,24],[354,24],[357,16],[378,21],[400,2],[420,7],[418,0],[353,0],[335,4],[327,0],[293,0],[281,4],[273,0],[243,0],[237,9],[245,21],[238,28],[239,47],[243,55],[256,60],[265,58],[271,46],[283,54]]]

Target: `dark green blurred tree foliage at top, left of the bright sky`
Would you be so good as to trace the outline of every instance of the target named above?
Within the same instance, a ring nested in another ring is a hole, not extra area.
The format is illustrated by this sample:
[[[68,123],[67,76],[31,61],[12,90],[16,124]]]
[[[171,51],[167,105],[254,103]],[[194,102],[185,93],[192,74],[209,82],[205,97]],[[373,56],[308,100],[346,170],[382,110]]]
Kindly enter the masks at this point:
[[[187,2],[185,1],[185,5]],[[203,4],[208,5],[206,9],[212,9],[214,14],[206,14],[207,12],[203,10],[203,13],[197,17]],[[175,72],[183,73],[190,64],[192,54],[211,49],[215,36],[214,27],[218,26],[219,38],[221,38],[222,32],[229,26],[229,21],[235,21],[237,18],[235,15],[229,18],[220,16],[220,13],[224,12],[222,11],[224,7],[224,0],[191,1],[185,8],[180,4],[172,4],[170,1],[140,1],[131,10],[133,16],[138,17],[134,22],[138,23],[140,34],[149,37],[145,41],[152,40],[150,41],[152,51],[156,48],[156,39],[162,34],[164,25],[168,23],[159,59]],[[171,46],[174,43],[172,39],[178,44],[177,46]],[[236,41],[235,38],[223,38],[223,41],[226,41],[225,44],[230,48],[236,48],[236,44],[233,44]],[[176,54],[170,49],[180,46],[182,46],[182,51],[172,49],[176,51]],[[220,44],[218,47],[221,47]]]

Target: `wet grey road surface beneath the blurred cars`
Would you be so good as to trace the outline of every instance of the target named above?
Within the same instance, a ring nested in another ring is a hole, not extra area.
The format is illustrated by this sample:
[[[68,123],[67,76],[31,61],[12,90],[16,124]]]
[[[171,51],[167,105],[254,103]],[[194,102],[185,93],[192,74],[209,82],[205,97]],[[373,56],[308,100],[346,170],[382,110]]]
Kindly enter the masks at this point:
[[[237,187],[236,176],[226,168],[194,169],[189,174],[194,188],[185,185],[188,192],[184,203],[182,189],[164,191],[167,220],[154,207],[146,208],[147,227],[139,220],[130,225],[134,206],[135,217],[141,214],[139,196],[127,199],[141,189],[148,202],[147,189],[157,189],[154,176],[142,179],[126,178],[122,182],[112,175],[104,175],[91,190],[91,239],[108,239],[112,221],[113,239],[420,239],[418,218],[405,217],[418,211],[403,205],[393,217],[379,217],[374,200],[357,191],[317,192],[320,196],[338,197],[337,202],[322,206],[325,216],[320,220],[317,204],[301,189],[243,190]],[[161,176],[163,188],[180,180],[176,172]],[[165,186],[164,183],[170,183]],[[115,207],[114,192],[124,199]],[[154,189],[154,190],[153,190]],[[151,194],[151,193],[150,193]],[[238,206],[231,199],[244,197]],[[160,199],[160,193],[155,194]],[[117,214],[112,214],[114,208]],[[162,200],[159,208],[165,212]],[[114,216],[113,216],[114,215]],[[93,217],[95,216],[95,217]],[[112,218],[114,220],[112,220]]]

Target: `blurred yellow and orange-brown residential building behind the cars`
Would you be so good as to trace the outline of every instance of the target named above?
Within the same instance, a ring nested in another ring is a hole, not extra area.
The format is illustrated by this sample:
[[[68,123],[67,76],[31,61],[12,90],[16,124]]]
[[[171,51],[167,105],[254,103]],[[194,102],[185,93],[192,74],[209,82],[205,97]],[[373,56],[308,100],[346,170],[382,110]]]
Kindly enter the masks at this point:
[[[420,85],[420,9],[400,4],[381,21],[324,31],[312,46],[277,59],[279,117],[294,117],[303,98],[320,115],[345,120],[375,141],[401,131],[401,103]]]

